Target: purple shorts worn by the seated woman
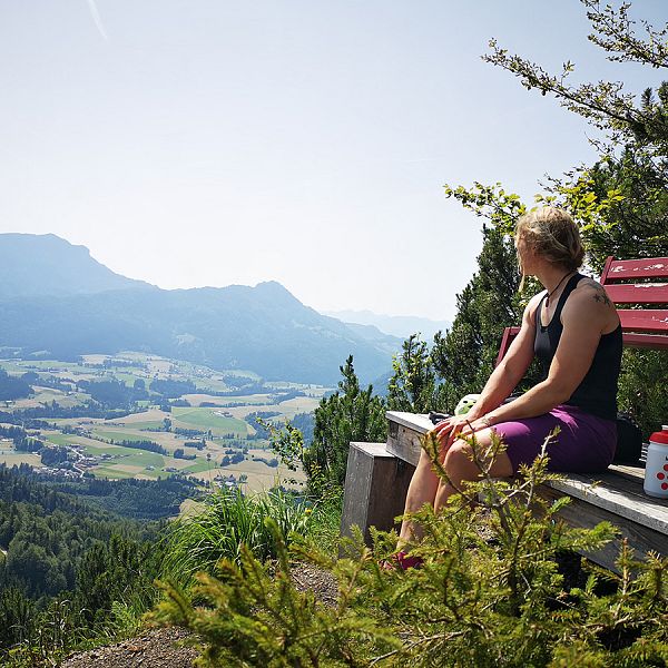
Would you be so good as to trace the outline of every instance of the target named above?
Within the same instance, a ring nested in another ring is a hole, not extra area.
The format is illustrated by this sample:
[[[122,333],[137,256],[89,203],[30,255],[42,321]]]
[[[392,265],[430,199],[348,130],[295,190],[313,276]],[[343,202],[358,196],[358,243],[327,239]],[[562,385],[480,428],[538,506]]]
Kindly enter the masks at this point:
[[[617,423],[584,413],[577,406],[559,405],[544,415],[500,422],[492,428],[503,439],[505,453],[518,471],[531,464],[546,436],[556,428],[559,434],[548,443],[550,471],[599,473],[612,462],[617,446]]]

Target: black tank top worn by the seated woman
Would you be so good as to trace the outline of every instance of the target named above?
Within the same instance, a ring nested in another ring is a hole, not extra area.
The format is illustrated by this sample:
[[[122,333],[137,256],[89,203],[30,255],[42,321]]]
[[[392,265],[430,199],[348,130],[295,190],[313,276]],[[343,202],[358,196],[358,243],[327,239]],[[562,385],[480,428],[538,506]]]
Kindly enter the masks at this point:
[[[569,295],[576,289],[578,283],[584,278],[582,274],[571,276],[566,284],[554,315],[547,327],[542,325],[541,311],[548,296],[542,297],[536,310],[536,340],[533,352],[540,361],[543,379],[548,377],[550,364],[557,352],[563,325],[561,324],[561,311]],[[621,365],[621,325],[609,334],[601,335],[591,366],[582,382],[578,385],[571,397],[564,402],[578,406],[587,413],[615,420],[617,418],[617,382],[619,367]]]

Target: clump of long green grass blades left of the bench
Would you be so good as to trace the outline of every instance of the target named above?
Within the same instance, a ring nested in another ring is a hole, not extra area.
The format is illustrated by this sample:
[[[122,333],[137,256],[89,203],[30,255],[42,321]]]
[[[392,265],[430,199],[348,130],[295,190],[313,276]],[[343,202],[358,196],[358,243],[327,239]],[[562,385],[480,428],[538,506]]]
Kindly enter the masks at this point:
[[[217,562],[227,558],[240,561],[242,546],[256,559],[277,556],[275,536],[267,529],[271,518],[281,533],[334,544],[338,536],[340,502],[313,502],[282,490],[245,497],[239,491],[214,492],[205,509],[174,522],[166,537],[164,577],[188,583],[197,571],[214,573]]]

